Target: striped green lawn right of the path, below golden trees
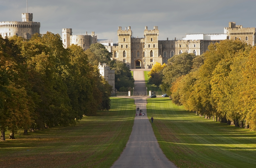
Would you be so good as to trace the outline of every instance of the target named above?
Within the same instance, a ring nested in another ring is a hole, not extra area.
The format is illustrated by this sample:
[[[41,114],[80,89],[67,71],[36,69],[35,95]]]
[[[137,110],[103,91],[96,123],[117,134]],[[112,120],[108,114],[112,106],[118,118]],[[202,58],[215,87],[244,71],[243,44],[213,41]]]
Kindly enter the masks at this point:
[[[256,134],[204,119],[169,98],[147,100],[155,136],[178,167],[256,167]]]

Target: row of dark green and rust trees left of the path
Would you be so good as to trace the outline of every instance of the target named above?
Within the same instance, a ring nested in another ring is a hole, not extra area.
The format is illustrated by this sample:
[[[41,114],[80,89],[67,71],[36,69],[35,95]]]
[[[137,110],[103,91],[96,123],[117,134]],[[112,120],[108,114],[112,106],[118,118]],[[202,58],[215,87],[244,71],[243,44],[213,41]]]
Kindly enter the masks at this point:
[[[101,49],[93,47],[97,55]],[[108,52],[98,55],[97,62],[110,61]],[[50,32],[30,40],[0,36],[1,140],[6,130],[13,139],[18,129],[74,125],[83,115],[110,109],[112,86],[88,57],[81,47],[63,48]]]

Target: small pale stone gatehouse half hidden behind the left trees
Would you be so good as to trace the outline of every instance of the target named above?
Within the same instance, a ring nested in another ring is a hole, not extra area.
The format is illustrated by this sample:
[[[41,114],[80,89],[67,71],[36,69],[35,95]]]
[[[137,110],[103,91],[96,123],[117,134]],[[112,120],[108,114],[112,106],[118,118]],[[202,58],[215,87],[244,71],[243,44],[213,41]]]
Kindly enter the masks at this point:
[[[112,95],[115,94],[115,70],[111,70],[106,63],[99,63],[98,66],[100,74],[104,77],[106,81],[112,86]]]

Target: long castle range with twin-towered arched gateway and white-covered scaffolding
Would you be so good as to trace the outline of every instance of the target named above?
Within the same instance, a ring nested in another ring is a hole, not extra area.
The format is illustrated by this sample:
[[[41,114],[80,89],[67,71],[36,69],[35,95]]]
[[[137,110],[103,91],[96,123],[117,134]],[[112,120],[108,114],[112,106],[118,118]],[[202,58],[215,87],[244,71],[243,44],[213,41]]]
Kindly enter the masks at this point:
[[[210,43],[225,39],[239,39],[255,45],[255,28],[243,28],[235,22],[229,22],[223,34],[186,34],[182,40],[158,40],[158,26],[153,30],[146,26],[143,38],[133,37],[130,26],[125,30],[118,27],[117,35],[118,45],[106,48],[112,52],[114,60],[125,62],[130,69],[150,69],[156,62],[167,63],[173,55],[184,52],[200,55],[206,52]]]

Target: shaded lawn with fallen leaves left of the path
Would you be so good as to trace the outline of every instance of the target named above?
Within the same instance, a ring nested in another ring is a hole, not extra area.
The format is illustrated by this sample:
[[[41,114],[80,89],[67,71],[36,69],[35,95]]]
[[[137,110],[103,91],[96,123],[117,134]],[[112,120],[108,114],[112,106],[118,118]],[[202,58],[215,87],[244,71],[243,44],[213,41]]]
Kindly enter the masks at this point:
[[[111,110],[0,142],[0,167],[110,167],[123,151],[134,122],[134,99],[111,97]]]

